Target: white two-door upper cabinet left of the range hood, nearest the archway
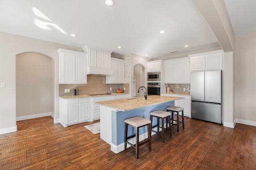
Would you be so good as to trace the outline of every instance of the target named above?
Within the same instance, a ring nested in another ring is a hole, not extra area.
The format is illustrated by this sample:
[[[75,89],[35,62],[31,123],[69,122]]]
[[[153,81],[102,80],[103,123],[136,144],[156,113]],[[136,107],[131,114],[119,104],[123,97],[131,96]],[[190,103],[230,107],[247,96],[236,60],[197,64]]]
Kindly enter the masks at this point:
[[[86,53],[58,49],[59,84],[86,84]]]

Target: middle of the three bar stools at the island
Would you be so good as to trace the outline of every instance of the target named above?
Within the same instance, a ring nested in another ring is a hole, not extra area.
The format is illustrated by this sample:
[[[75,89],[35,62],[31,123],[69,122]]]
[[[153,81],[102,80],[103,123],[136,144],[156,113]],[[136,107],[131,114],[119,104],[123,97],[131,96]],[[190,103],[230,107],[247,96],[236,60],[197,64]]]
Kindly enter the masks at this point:
[[[157,124],[152,126],[153,123],[151,123],[151,131],[155,133],[162,134],[162,142],[164,142],[164,131],[170,129],[170,137],[172,137],[172,126],[171,126],[171,121],[168,121],[168,119],[171,120],[171,113],[168,111],[163,111],[163,110],[155,110],[150,112],[150,121],[152,122],[153,117],[157,118]],[[166,128],[164,128],[164,118],[166,118]],[[162,127],[159,125],[159,119],[162,119]],[[168,128],[168,122],[169,122],[169,128]],[[154,127],[157,127],[157,131],[152,130]],[[159,132],[159,128],[162,129],[161,132]]]

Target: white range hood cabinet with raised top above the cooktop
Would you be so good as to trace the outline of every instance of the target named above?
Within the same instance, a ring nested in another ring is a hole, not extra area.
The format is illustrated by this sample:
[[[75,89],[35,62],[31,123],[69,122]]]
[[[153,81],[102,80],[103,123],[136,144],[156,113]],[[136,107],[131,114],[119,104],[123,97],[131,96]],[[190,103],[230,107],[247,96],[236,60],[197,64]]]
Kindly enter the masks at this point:
[[[111,52],[83,47],[85,52],[88,52],[87,58],[87,74],[102,74],[112,75],[111,68]]]

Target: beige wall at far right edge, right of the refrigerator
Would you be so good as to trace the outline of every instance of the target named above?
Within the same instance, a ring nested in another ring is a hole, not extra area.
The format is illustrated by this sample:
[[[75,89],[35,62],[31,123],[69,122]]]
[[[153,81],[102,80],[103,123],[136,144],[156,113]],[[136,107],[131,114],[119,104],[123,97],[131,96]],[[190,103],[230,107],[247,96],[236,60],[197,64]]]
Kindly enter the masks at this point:
[[[236,35],[236,118],[256,121],[256,31]]]

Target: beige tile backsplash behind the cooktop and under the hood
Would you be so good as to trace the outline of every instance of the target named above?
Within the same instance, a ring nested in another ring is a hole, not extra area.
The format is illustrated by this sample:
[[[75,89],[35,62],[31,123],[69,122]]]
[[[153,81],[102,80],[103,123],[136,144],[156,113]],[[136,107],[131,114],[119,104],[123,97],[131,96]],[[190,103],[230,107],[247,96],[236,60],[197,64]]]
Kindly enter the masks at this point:
[[[74,89],[78,89],[78,95],[115,93],[118,88],[129,92],[129,84],[106,84],[106,76],[87,75],[87,84],[59,84],[59,96],[73,96]],[[112,88],[112,90],[110,90]],[[65,93],[65,89],[70,89]]]

